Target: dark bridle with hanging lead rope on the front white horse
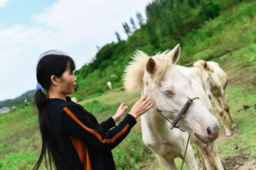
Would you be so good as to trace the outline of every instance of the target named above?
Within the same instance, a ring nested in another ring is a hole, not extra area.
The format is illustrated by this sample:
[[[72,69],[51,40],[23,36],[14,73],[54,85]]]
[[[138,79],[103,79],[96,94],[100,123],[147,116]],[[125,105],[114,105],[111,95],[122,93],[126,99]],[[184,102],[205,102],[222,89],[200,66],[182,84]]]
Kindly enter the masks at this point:
[[[144,96],[144,81],[142,81],[142,96]],[[165,118],[169,123],[171,123],[170,125],[170,129],[173,130],[174,128],[178,128],[179,130],[181,130],[182,132],[185,132],[185,130],[182,130],[181,128],[179,128],[178,126],[176,126],[176,124],[178,123],[179,120],[181,120],[181,118],[184,118],[185,117],[185,113],[186,113],[186,110],[188,109],[188,106],[191,105],[191,103],[193,102],[193,100],[195,99],[199,99],[198,97],[195,97],[195,98],[188,98],[188,101],[186,101],[185,105],[181,108],[181,111],[178,113],[178,111],[171,111],[171,110],[164,110],[164,109],[159,109],[159,108],[156,108],[155,106],[152,106],[152,108],[156,109],[156,111],[163,117]],[[174,121],[171,122],[171,120],[169,120],[168,118],[166,118],[162,112],[163,111],[166,111],[166,112],[173,112],[173,113],[178,113],[178,115],[176,116],[176,118],[174,118]],[[183,164],[184,164],[184,161],[185,161],[185,157],[186,157],[186,151],[188,149],[188,142],[189,142],[189,139],[190,139],[190,133],[188,135],[188,141],[186,143],[186,149],[185,149],[185,153],[184,153],[184,157],[183,157],[183,161],[182,161],[182,164],[181,164],[181,169],[183,168]]]

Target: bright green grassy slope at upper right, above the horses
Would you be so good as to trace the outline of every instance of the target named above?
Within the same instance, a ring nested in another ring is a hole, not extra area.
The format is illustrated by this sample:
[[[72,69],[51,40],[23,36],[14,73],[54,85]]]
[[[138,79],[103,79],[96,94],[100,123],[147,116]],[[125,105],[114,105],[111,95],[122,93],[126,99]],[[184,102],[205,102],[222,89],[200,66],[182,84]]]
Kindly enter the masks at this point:
[[[255,6],[255,1],[242,2],[223,11],[214,20],[206,21],[202,28],[188,33],[181,45],[182,63],[202,59],[213,60],[255,43]]]

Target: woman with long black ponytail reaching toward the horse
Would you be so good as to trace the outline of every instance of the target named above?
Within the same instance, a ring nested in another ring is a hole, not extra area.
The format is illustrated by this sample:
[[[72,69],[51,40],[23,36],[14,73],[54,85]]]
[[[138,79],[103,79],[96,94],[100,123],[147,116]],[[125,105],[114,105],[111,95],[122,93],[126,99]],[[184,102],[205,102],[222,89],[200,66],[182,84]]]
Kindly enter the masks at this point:
[[[43,53],[38,62],[35,103],[43,144],[33,169],[39,169],[46,157],[50,165],[46,169],[116,169],[111,150],[124,140],[152,103],[142,97],[116,125],[127,110],[122,103],[114,116],[98,124],[94,115],[67,96],[75,91],[74,70],[73,59],[59,51]]]

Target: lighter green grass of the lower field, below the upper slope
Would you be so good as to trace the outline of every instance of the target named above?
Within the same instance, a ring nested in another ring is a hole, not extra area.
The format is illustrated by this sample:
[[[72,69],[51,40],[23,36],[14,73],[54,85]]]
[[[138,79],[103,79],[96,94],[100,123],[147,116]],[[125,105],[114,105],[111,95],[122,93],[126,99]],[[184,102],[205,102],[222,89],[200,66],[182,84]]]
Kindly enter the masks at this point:
[[[255,159],[256,113],[253,106],[256,88],[253,81],[250,81],[255,79],[256,61],[252,60],[255,47],[255,44],[251,44],[215,60],[228,74],[228,104],[230,113],[238,124],[238,131],[232,131],[232,137],[217,141],[220,159],[236,157],[241,153],[248,155],[247,160]],[[80,104],[101,121],[114,115],[123,101],[130,109],[138,98],[139,93],[128,94],[119,88],[90,96],[85,101],[80,101]],[[245,111],[242,109],[244,105],[252,107]],[[41,137],[38,135],[37,115],[33,108],[32,103],[24,103],[10,113],[0,115],[0,169],[31,169],[36,163],[41,149]],[[223,134],[220,117],[218,120],[220,134]],[[228,125],[231,129],[230,123]],[[234,145],[238,148],[234,149]],[[142,142],[140,119],[124,142],[113,150],[113,155],[117,169],[164,169],[154,153]],[[175,162],[180,168],[181,159],[176,159]],[[45,168],[42,166],[41,169]],[[183,169],[187,169],[186,166]]]

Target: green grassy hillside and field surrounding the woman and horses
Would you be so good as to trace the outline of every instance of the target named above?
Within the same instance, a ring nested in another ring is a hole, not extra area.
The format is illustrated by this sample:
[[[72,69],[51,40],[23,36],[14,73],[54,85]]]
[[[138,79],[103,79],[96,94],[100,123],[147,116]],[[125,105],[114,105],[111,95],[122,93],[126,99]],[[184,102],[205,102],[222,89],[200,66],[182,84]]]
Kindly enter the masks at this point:
[[[256,2],[230,0],[215,3],[220,6],[218,16],[204,18],[198,27],[195,26],[186,30],[186,34],[180,35],[179,40],[171,39],[171,35],[163,35],[162,28],[156,22],[152,24],[156,30],[156,38],[161,42],[159,47],[150,42],[150,29],[146,24],[136,30],[127,41],[120,40],[105,45],[91,64],[75,72],[78,77],[78,90],[72,96],[77,97],[81,105],[99,121],[113,115],[123,101],[131,108],[139,98],[139,93],[127,94],[123,91],[122,74],[134,50],[139,49],[154,55],[180,43],[181,59],[178,64],[189,66],[198,59],[214,60],[228,74],[228,103],[230,113],[238,123],[238,131],[226,138],[220,117],[216,115],[220,122],[217,145],[224,166],[235,169],[228,164],[239,166],[241,162],[255,160]],[[198,16],[201,10],[200,6],[195,6],[191,10],[191,16]],[[157,20],[158,18],[155,19]],[[112,91],[108,90],[107,81],[112,81]],[[244,106],[252,107],[244,109]],[[228,125],[231,128],[230,123]],[[164,169],[151,150],[143,144],[141,133],[138,120],[124,142],[113,150],[117,169]],[[0,114],[0,169],[31,169],[40,149],[41,137],[38,135],[33,103],[23,103],[10,113]],[[180,159],[176,159],[176,162],[181,166]],[[41,169],[46,167],[42,166]]]

